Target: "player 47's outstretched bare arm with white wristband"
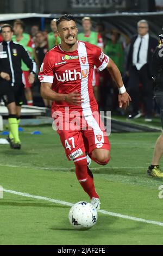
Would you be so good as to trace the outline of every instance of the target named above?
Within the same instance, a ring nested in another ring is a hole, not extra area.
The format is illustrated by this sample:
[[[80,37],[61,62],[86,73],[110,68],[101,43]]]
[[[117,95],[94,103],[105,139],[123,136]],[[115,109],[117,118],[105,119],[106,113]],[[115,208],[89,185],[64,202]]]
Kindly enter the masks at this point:
[[[117,84],[117,87],[119,90],[119,95],[118,95],[119,106],[120,106],[120,108],[126,109],[127,106],[129,106],[131,97],[126,92],[126,88],[124,87],[120,70],[117,68],[116,64],[110,58],[109,58],[108,65],[106,66],[106,69],[108,69],[112,79]]]

